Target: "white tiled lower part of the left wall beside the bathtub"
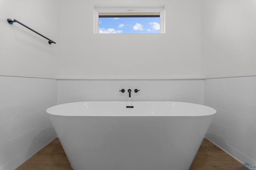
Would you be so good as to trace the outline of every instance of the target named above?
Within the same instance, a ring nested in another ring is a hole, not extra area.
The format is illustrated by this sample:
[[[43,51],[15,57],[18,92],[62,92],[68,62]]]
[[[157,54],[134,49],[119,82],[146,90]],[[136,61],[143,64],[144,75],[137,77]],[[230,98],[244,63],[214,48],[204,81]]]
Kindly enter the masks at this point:
[[[0,170],[14,170],[56,137],[46,108],[56,80],[0,76]]]

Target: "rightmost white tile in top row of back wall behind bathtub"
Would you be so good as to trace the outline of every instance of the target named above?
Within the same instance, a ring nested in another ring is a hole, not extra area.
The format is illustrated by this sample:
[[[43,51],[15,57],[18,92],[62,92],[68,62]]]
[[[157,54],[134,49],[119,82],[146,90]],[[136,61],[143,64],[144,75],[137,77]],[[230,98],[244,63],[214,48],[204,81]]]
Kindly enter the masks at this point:
[[[204,92],[204,80],[181,80],[182,92]]]

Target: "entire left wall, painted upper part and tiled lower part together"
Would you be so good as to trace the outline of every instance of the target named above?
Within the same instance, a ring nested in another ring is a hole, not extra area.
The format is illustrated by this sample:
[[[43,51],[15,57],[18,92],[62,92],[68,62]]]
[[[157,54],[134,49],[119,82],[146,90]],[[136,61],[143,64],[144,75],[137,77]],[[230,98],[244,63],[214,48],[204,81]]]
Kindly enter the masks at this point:
[[[56,137],[46,108],[57,103],[54,79],[58,1],[0,0],[0,170],[14,170]],[[15,77],[14,77],[15,76]],[[34,77],[34,78],[24,78]]]

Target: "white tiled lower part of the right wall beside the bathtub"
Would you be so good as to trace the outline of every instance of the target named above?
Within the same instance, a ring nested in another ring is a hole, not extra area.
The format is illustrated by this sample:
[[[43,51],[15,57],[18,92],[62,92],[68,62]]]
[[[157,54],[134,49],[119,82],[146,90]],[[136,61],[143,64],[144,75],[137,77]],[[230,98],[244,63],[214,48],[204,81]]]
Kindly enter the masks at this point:
[[[204,103],[217,110],[206,134],[240,160],[256,164],[256,76],[205,80]]]

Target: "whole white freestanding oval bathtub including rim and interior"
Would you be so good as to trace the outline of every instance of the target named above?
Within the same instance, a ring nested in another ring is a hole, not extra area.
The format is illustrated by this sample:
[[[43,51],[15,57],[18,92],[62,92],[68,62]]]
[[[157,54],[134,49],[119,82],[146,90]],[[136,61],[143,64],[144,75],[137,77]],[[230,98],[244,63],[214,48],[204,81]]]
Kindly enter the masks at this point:
[[[188,170],[216,113],[183,102],[76,102],[46,111],[74,170]]]

